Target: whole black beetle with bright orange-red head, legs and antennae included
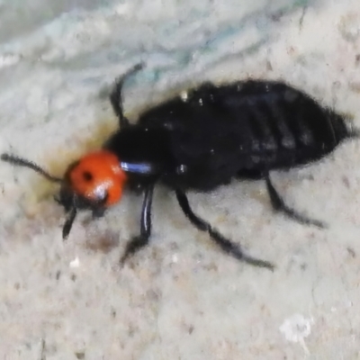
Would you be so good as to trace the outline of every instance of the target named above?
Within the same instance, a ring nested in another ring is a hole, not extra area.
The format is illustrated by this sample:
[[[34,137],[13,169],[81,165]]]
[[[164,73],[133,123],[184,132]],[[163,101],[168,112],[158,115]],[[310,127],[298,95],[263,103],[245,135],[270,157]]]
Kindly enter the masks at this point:
[[[124,116],[122,86],[143,67],[139,64],[120,76],[110,94],[120,122],[100,150],[68,166],[63,178],[9,154],[2,159],[27,166],[60,184],[55,199],[67,212],[63,238],[67,238],[76,212],[92,211],[94,218],[121,199],[125,185],[143,193],[139,236],[130,239],[121,264],[151,235],[154,187],[164,184],[175,192],[184,215],[199,230],[207,231],[223,251],[253,266],[273,269],[266,260],[247,255],[196,215],[187,191],[209,192],[234,177],[264,179],[275,211],[302,224],[325,224],[289,207],[275,190],[270,171],[304,166],[328,155],[344,139],[356,137],[344,116],[320,105],[309,94],[283,82],[247,79],[227,85],[204,83],[159,103],[139,115],[135,124]]]

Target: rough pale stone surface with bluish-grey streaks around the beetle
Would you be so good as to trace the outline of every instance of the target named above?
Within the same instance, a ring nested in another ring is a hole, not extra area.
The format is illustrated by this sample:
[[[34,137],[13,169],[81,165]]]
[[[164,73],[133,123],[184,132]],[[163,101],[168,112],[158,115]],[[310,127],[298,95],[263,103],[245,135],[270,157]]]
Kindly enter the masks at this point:
[[[116,127],[109,85],[141,59],[148,67],[126,85],[134,121],[169,92],[253,76],[296,85],[360,128],[358,0],[28,3],[0,1],[0,151],[54,174]],[[151,245],[119,269],[140,198],[83,216],[64,243],[56,186],[0,164],[0,358],[359,358],[359,164],[353,140],[274,174],[286,202],[325,230],[275,214],[261,182],[191,194],[274,274],[220,253],[163,188]]]

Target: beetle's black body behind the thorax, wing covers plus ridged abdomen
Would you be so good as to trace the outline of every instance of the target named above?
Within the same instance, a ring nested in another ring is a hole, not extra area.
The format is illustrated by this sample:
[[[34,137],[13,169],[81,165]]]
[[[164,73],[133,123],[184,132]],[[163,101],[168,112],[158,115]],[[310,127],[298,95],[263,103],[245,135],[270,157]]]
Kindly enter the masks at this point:
[[[169,183],[199,189],[311,163],[349,135],[344,118],[309,95],[255,80],[204,84],[143,112],[139,124],[168,132],[175,168],[186,168]]]

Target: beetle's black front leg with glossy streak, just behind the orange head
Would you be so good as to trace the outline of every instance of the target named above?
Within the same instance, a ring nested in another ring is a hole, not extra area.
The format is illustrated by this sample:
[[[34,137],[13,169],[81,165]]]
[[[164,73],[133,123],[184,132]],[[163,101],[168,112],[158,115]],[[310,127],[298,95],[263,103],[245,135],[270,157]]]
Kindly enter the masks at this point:
[[[144,201],[142,202],[140,235],[132,238],[127,244],[125,252],[120,260],[121,264],[123,264],[128,257],[139,251],[141,247],[148,245],[148,239],[151,235],[151,203],[154,186],[155,184],[149,184],[145,190]]]

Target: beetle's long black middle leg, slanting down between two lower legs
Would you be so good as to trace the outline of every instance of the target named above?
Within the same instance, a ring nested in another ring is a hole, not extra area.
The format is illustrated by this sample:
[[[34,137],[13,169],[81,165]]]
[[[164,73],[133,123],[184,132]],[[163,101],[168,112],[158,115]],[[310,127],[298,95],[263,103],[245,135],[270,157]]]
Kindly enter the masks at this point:
[[[184,215],[186,216],[186,218],[189,219],[197,229],[207,231],[211,239],[223,251],[225,251],[232,257],[235,257],[240,261],[244,261],[245,263],[252,266],[266,267],[270,270],[274,269],[275,266],[272,263],[257,259],[255,257],[249,257],[244,254],[238,244],[235,244],[231,242],[228,238],[225,238],[223,235],[220,234],[218,230],[212,229],[211,225],[208,222],[202,220],[201,218],[199,218],[199,216],[193,213],[193,210],[191,209],[187,196],[184,192],[182,192],[181,190],[176,190],[175,193],[177,201],[179,202],[182,211],[184,211]]]

